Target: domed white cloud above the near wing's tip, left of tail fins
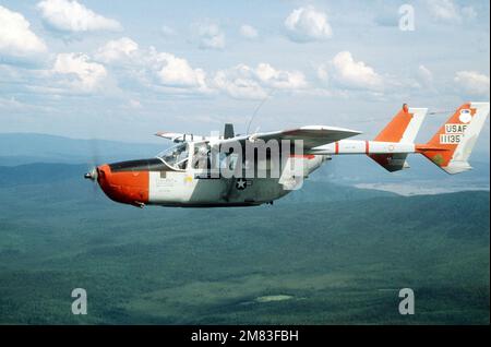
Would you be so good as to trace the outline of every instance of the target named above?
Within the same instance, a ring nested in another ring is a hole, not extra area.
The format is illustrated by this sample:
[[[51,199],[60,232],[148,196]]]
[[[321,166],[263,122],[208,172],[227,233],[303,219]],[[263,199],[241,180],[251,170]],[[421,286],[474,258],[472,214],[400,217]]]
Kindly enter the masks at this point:
[[[321,65],[318,76],[348,89],[383,89],[382,76],[364,62],[356,61],[349,51],[338,52],[328,64]]]

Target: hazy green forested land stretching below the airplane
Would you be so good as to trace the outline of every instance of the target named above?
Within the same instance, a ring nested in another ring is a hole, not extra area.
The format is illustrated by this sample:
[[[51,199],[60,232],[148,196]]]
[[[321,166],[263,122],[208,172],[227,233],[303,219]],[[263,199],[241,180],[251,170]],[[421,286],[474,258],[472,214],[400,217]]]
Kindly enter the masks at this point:
[[[273,206],[139,210],[85,169],[0,168],[1,324],[490,322],[489,191],[307,181]],[[398,313],[402,288],[414,315]]]

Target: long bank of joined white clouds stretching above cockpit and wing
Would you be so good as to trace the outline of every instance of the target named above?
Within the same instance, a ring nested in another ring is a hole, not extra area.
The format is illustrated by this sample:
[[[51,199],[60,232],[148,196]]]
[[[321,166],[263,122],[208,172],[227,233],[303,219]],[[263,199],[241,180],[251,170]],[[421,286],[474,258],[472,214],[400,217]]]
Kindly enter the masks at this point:
[[[142,49],[128,37],[108,41],[97,50],[95,58],[106,63],[108,69],[116,69],[115,75],[124,80],[127,86],[137,82],[165,93],[172,93],[172,89],[201,94],[224,92],[236,98],[262,98],[267,88],[307,87],[303,73],[277,70],[267,63],[260,63],[256,68],[239,64],[207,74],[203,69],[193,68],[184,58],[154,47]]]

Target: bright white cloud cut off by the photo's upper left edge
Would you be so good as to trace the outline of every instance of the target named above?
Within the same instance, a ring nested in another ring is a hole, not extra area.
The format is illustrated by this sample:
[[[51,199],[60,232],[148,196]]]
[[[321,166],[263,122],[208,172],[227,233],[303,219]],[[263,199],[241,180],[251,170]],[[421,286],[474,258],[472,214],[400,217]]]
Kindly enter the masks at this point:
[[[26,57],[45,52],[43,39],[31,31],[31,24],[17,12],[0,5],[0,55]]]

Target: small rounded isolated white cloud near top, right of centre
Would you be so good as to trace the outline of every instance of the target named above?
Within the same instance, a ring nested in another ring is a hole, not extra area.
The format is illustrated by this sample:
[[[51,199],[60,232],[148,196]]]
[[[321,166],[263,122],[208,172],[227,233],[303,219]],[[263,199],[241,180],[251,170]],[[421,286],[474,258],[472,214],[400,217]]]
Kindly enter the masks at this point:
[[[298,43],[327,39],[333,35],[327,15],[313,7],[294,10],[285,20],[288,37]]]

